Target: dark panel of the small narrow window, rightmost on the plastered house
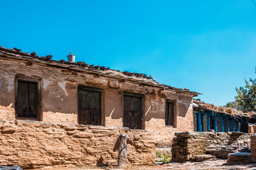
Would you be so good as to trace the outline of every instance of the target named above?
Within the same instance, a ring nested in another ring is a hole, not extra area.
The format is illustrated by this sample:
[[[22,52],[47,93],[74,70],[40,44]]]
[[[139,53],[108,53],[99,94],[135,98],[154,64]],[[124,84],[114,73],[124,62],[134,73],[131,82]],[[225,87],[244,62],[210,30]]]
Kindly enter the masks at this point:
[[[165,125],[174,126],[174,117],[175,116],[175,102],[166,101],[166,111],[165,111]]]

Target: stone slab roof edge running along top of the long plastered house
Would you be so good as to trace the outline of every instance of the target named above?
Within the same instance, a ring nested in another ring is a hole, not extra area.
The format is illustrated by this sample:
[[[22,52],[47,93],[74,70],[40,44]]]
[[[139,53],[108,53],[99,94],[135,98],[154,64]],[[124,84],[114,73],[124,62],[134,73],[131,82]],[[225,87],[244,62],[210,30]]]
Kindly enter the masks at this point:
[[[125,80],[138,81],[140,83],[145,83],[147,85],[161,87],[164,90],[173,90],[175,92],[189,94],[192,96],[197,96],[198,94],[200,94],[198,92],[191,92],[188,89],[179,89],[179,88],[172,87],[170,85],[164,85],[154,80],[154,78],[151,75],[148,76],[147,74],[132,73],[128,71],[122,72],[115,69],[110,69],[109,67],[105,67],[105,66],[94,66],[94,64],[89,65],[86,62],[82,62],[82,61],[68,62],[65,60],[52,60],[52,55],[39,57],[36,54],[36,52],[32,52],[32,53],[22,52],[19,48],[9,49],[9,48],[4,48],[3,46],[0,46],[0,56],[11,57],[15,59],[22,59],[22,60],[30,60],[33,62],[43,62],[47,64],[47,66],[62,67],[66,69],[72,69],[75,71],[86,71],[90,73],[102,74],[104,76],[111,76],[111,77],[125,79]]]

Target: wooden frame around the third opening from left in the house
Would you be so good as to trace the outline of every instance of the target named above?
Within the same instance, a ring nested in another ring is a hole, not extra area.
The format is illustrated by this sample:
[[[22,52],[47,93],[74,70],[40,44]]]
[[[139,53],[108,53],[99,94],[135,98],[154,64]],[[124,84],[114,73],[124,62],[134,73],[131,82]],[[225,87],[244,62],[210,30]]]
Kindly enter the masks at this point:
[[[141,98],[141,129],[131,129],[131,130],[142,130],[145,129],[145,114],[144,114],[144,95],[132,92],[122,92],[122,110],[123,110],[123,127],[124,127],[124,96],[140,97]]]

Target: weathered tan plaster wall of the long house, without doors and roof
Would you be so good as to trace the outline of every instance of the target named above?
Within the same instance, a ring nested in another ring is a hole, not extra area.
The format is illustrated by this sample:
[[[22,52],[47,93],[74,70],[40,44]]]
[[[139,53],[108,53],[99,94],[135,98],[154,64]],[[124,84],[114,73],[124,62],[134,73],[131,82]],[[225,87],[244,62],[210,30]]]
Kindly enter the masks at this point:
[[[85,85],[103,89],[102,125],[123,126],[122,92],[134,92],[144,94],[143,127],[154,133],[159,147],[170,146],[174,132],[194,129],[192,97],[185,94],[26,61],[0,59],[0,67],[0,106],[8,110],[8,115],[0,114],[1,120],[15,118],[15,76],[28,76],[41,82],[43,122],[77,124],[77,85]],[[165,125],[166,99],[177,102],[175,127]]]

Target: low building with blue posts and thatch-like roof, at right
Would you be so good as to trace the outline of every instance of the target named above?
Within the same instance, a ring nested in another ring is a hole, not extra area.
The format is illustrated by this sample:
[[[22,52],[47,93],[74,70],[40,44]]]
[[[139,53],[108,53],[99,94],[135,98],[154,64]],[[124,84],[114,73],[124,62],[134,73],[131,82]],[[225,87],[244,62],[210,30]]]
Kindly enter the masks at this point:
[[[195,132],[249,132],[249,122],[255,113],[243,113],[232,108],[193,101]]]

